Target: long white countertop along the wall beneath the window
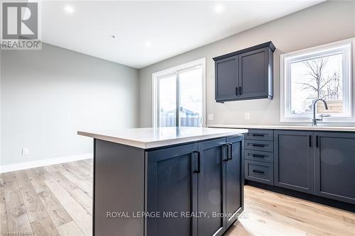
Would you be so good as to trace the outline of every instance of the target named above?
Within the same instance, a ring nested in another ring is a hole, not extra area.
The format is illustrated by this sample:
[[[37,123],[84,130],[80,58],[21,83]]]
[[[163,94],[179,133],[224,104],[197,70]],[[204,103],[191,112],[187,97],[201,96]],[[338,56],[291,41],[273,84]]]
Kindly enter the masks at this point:
[[[354,126],[307,126],[307,125],[207,125],[210,128],[246,128],[272,130],[320,130],[320,131],[348,131],[355,132]]]

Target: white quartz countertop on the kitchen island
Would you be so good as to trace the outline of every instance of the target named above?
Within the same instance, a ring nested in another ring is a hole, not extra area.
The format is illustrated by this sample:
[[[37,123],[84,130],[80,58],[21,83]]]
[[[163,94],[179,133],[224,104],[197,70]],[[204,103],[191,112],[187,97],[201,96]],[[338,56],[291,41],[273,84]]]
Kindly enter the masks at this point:
[[[243,133],[248,133],[248,130],[235,128],[165,127],[77,132],[78,135],[143,149],[175,145],[184,142],[195,142],[215,137],[241,135]]]

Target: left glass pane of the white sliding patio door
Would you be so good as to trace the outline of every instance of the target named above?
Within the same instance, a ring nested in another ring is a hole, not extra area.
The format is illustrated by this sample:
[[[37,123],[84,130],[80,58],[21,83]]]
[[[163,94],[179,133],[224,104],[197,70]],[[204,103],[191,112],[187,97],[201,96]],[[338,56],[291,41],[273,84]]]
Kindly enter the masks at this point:
[[[158,121],[160,127],[176,126],[176,76],[159,79]]]

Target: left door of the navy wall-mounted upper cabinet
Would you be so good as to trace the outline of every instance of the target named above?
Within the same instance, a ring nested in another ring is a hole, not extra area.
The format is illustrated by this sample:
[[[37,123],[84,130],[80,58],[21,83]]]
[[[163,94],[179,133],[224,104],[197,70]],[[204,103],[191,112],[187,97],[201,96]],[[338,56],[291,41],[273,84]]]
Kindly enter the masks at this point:
[[[215,62],[216,101],[228,101],[238,98],[238,56],[228,57]]]

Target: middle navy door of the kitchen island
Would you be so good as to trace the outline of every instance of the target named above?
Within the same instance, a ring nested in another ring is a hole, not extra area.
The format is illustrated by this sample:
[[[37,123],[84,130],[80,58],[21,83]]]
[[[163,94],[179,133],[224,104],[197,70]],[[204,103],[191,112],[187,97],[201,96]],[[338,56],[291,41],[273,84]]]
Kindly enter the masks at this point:
[[[198,219],[199,236],[219,236],[226,229],[223,213],[226,209],[225,172],[226,139],[199,143],[201,155],[201,172],[199,176],[199,212],[207,213]],[[213,214],[218,214],[213,215]]]

